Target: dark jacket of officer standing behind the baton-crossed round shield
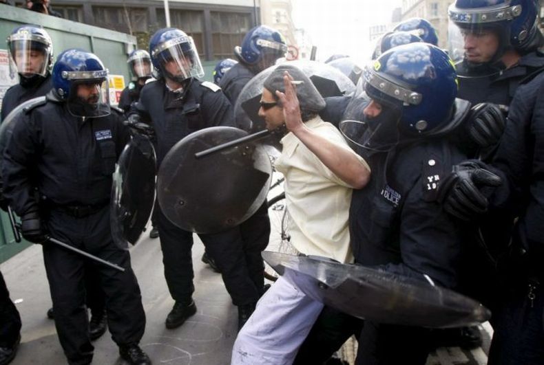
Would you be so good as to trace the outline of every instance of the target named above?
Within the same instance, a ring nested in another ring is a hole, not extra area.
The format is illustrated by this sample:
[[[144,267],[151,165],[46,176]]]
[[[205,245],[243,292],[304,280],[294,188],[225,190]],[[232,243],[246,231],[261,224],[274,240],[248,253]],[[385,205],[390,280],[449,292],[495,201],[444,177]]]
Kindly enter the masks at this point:
[[[234,126],[233,109],[220,88],[196,79],[190,80],[182,94],[169,91],[164,80],[147,83],[133,112],[154,126],[158,164],[190,133],[209,126]]]

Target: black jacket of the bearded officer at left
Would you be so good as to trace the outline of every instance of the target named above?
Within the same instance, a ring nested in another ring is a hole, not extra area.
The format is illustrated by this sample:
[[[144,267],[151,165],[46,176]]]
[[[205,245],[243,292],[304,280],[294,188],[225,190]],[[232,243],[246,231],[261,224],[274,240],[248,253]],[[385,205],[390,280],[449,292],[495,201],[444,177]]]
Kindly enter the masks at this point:
[[[34,188],[52,205],[107,203],[128,140],[120,111],[77,118],[49,93],[14,126],[3,154],[3,193],[20,215],[36,209]]]

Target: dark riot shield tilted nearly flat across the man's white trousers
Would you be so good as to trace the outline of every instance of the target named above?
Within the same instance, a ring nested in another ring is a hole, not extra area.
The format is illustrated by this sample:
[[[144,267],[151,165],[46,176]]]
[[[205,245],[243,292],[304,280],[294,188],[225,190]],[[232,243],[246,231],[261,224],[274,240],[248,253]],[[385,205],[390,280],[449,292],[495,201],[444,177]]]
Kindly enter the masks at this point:
[[[428,328],[461,327],[490,318],[478,302],[428,278],[421,281],[327,258],[265,251],[264,261],[304,294],[357,318]]]

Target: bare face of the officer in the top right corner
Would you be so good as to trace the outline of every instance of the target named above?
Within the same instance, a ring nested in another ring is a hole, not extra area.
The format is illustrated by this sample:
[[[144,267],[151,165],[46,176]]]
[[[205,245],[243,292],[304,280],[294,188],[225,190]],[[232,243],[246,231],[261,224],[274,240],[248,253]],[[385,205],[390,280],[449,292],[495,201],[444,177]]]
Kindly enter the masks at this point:
[[[465,58],[469,62],[489,62],[499,49],[499,35],[491,30],[463,30],[461,34],[465,41]]]

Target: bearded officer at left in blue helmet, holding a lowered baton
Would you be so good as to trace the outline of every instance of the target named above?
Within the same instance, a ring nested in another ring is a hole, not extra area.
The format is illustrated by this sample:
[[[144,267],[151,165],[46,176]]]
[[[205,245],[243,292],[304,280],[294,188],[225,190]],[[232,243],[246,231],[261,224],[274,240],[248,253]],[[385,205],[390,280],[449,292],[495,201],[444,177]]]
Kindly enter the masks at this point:
[[[85,308],[86,265],[93,265],[107,298],[107,320],[119,353],[130,364],[151,364],[138,342],[145,313],[127,250],[114,244],[109,198],[115,162],[129,135],[110,109],[107,69],[80,49],[61,53],[54,89],[25,112],[4,153],[4,194],[21,216],[21,233],[43,244],[59,340],[70,364],[90,364],[93,346]],[[106,85],[106,86],[103,86]],[[34,194],[37,190],[39,201]],[[125,269],[120,272],[48,242],[48,237]]]

